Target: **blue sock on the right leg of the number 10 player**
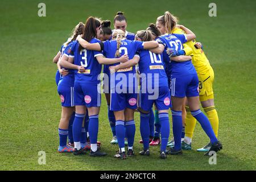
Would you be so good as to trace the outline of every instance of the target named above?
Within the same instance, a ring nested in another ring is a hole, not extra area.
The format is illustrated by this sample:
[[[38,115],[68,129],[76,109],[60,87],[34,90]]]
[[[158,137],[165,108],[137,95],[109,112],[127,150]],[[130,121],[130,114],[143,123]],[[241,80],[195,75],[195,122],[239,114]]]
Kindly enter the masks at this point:
[[[161,127],[161,147],[160,151],[166,151],[166,146],[168,143],[170,135],[170,123],[168,113],[159,113],[159,122]]]

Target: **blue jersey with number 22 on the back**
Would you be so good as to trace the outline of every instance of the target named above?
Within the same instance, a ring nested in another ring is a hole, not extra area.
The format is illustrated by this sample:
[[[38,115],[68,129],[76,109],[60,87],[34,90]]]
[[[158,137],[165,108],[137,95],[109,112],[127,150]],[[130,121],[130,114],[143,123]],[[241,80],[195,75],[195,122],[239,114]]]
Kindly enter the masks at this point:
[[[183,49],[183,44],[187,42],[184,34],[166,34],[160,36],[157,41],[164,45],[164,53],[167,48],[174,48],[177,51]],[[171,75],[192,75],[196,73],[195,67],[191,60],[184,62],[170,61],[168,56],[164,56],[167,64],[167,69]]]

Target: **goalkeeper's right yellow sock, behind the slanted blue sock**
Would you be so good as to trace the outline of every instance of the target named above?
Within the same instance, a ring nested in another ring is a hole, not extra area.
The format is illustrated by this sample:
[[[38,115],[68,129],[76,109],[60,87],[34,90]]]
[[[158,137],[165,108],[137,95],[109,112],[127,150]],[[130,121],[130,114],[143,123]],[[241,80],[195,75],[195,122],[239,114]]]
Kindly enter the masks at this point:
[[[215,106],[204,107],[204,111],[207,114],[207,117],[212,125],[212,129],[216,137],[218,137],[218,113]]]

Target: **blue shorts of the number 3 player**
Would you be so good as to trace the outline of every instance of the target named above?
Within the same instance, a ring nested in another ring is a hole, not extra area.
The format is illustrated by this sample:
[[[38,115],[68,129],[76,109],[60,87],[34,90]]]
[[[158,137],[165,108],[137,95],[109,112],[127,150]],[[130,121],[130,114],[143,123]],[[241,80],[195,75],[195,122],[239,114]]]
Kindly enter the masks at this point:
[[[101,106],[100,84],[92,85],[75,82],[74,91],[75,105],[84,105],[86,107]]]

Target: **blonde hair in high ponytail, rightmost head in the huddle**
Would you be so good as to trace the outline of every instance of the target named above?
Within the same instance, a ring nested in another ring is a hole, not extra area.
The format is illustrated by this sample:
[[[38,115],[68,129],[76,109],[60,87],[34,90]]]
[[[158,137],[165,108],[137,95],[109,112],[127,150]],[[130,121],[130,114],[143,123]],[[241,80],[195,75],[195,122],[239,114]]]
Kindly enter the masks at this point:
[[[163,24],[168,34],[171,34],[172,30],[174,30],[177,25],[178,19],[169,11],[166,11],[164,15],[158,17],[157,21]]]

